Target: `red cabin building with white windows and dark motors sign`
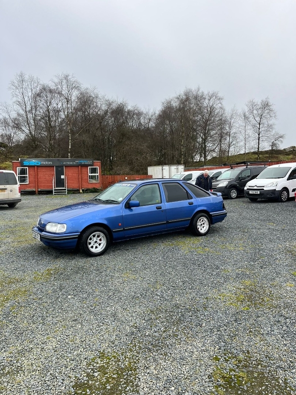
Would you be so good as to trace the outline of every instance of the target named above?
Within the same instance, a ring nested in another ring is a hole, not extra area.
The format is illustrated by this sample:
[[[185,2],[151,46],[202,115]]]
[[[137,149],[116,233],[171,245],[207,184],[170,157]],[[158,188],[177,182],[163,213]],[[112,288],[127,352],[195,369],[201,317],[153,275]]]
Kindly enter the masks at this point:
[[[69,190],[82,191],[101,188],[101,161],[68,158],[24,158],[12,162],[21,192],[52,191],[67,194]]]

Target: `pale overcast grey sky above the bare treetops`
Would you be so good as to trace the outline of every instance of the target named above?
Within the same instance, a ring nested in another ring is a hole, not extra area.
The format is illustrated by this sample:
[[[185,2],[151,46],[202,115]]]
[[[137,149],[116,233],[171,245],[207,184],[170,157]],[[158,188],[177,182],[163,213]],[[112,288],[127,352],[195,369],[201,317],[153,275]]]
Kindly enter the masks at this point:
[[[142,109],[198,86],[226,109],[268,96],[296,145],[296,0],[0,0],[0,56],[0,102],[21,71]]]

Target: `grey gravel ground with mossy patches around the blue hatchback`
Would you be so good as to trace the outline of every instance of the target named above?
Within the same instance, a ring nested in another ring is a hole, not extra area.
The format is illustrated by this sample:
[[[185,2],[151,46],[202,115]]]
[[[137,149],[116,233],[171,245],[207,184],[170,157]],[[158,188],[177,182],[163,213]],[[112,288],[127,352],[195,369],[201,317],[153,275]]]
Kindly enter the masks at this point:
[[[296,202],[225,200],[206,237],[59,252],[0,206],[0,394],[296,394]]]

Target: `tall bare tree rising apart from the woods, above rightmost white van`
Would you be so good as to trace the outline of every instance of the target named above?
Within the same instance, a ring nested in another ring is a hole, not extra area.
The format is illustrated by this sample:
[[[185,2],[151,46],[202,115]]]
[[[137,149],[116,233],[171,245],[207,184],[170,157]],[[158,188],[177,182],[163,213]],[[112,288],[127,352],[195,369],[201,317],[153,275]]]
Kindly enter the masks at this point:
[[[274,120],[276,111],[274,105],[270,103],[269,98],[260,100],[249,100],[246,104],[247,119],[250,126],[253,141],[257,145],[257,159],[260,158],[260,149],[271,139],[274,130]]]

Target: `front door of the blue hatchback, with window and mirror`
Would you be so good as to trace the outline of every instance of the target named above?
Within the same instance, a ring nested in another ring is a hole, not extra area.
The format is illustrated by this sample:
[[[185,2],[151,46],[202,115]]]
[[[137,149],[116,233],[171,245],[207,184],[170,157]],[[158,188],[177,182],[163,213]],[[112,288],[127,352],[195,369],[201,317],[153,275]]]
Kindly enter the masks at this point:
[[[129,201],[139,201],[139,207],[130,207]],[[152,235],[166,230],[166,209],[159,185],[141,186],[123,206],[125,237]]]

